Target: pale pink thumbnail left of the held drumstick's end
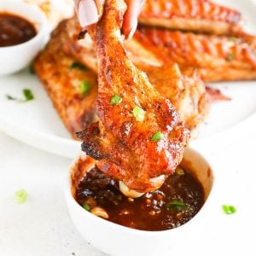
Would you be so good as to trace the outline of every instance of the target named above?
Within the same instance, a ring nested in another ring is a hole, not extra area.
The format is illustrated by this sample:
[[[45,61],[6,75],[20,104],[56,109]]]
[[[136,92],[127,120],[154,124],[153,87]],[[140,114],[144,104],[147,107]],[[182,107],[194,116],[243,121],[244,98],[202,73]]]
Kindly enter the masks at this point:
[[[80,26],[88,26],[98,21],[98,11],[94,0],[81,0],[79,2]]]

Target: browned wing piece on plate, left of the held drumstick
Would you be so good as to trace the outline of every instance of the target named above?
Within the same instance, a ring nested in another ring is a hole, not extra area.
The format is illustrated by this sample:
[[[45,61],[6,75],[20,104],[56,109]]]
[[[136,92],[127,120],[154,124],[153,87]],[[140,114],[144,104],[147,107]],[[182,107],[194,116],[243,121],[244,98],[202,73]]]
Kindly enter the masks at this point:
[[[75,59],[61,49],[61,41],[67,38],[66,25],[67,21],[62,21],[52,33],[46,49],[34,62],[34,69],[67,130],[75,137],[77,131],[84,130],[96,119],[97,78],[89,69],[71,68]],[[90,84],[84,96],[79,91],[82,82]]]

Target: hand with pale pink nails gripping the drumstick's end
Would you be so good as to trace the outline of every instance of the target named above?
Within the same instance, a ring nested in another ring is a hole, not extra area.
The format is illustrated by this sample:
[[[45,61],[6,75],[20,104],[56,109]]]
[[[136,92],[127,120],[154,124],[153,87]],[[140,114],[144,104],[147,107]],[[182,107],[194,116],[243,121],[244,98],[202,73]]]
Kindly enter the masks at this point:
[[[127,10],[124,15],[122,33],[131,38],[137,28],[137,16],[143,7],[144,0],[125,0]],[[80,26],[89,26],[99,20],[104,0],[75,0],[75,9]]]

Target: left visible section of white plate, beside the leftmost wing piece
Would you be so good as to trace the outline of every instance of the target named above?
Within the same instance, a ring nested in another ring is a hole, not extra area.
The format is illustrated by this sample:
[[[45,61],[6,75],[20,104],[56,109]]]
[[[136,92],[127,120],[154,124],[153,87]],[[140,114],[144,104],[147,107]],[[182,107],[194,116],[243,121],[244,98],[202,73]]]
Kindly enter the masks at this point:
[[[6,99],[6,95],[22,97],[24,88],[32,90],[34,100]],[[80,148],[80,143],[69,136],[42,84],[27,70],[0,78],[0,130],[23,143],[67,157],[73,157]]]

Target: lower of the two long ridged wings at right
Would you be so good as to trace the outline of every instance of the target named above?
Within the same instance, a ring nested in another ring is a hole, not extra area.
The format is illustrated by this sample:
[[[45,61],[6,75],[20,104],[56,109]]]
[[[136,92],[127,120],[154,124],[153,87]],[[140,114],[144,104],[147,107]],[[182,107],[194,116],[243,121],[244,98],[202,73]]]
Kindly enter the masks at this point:
[[[207,82],[256,79],[255,39],[139,28],[166,61],[177,62],[189,74],[196,68]]]

